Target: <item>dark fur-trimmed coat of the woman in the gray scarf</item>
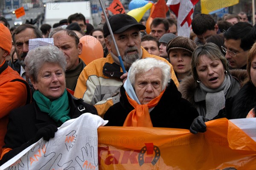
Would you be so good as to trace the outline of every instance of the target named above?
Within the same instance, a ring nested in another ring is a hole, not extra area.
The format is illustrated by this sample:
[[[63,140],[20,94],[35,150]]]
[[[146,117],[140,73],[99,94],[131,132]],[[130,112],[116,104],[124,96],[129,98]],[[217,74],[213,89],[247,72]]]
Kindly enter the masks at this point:
[[[225,95],[225,99],[235,96],[241,88],[241,83],[246,79],[246,70],[231,70],[230,71],[230,88]],[[199,83],[195,82],[194,77],[189,76],[183,79],[180,83],[179,91],[182,94],[182,98],[188,100],[198,110],[200,116],[206,116],[206,103],[205,100],[195,102],[195,91],[199,89]]]

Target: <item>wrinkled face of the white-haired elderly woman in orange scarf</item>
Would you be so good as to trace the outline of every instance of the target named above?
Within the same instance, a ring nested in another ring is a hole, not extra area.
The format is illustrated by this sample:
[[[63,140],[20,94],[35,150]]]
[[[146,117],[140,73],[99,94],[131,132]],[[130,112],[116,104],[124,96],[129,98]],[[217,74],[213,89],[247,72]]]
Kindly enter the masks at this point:
[[[134,89],[142,105],[159,96],[162,91],[162,71],[160,68],[155,68],[154,71],[149,70],[143,74],[136,74]]]

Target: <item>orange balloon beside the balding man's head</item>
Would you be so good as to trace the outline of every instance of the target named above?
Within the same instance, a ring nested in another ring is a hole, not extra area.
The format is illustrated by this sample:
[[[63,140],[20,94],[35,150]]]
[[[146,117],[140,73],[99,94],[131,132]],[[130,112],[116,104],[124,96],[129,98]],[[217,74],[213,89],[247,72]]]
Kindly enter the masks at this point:
[[[95,37],[85,35],[80,38],[80,42],[83,44],[83,49],[79,57],[86,65],[95,59],[103,58],[104,52],[102,45]]]

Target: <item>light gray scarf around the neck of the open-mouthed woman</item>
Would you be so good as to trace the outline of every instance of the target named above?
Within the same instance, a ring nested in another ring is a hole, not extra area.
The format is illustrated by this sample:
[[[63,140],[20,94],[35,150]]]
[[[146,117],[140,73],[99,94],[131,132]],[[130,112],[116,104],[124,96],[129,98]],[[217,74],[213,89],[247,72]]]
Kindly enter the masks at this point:
[[[200,83],[200,88],[204,91],[206,103],[206,118],[211,120],[217,116],[218,112],[225,106],[225,95],[231,85],[230,77],[225,76],[224,82],[218,88],[207,88],[203,83]]]

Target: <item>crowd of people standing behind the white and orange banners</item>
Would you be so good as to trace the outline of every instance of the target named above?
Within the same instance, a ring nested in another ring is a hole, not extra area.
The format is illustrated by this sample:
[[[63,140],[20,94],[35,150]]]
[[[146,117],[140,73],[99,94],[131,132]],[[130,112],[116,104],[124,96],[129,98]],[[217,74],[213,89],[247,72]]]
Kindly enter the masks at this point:
[[[76,13],[12,33],[1,17],[0,165],[86,112],[108,120],[106,126],[195,134],[212,119],[256,117],[256,25],[244,15],[216,22],[198,14],[190,37],[177,36],[176,18],[155,18],[146,34],[128,14],[108,16],[112,37],[104,15],[97,28]],[[79,58],[85,35],[104,51],[87,65]],[[33,38],[53,38],[54,45],[29,51]]]

